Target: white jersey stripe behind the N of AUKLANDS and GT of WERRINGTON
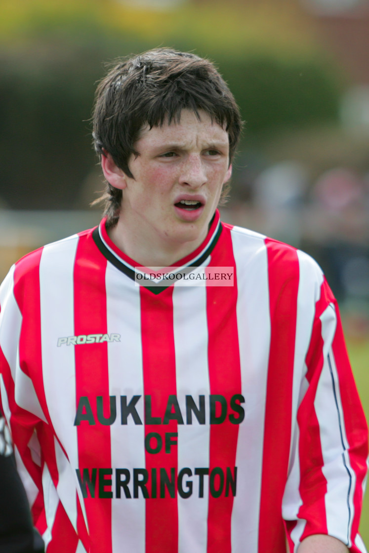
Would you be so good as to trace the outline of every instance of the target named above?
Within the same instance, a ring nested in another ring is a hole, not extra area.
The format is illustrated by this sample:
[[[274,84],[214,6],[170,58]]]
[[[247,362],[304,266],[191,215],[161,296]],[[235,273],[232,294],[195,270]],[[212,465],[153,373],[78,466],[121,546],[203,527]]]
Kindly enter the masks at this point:
[[[193,482],[188,498],[178,495],[179,553],[206,553],[209,478],[204,478],[204,497],[199,498],[199,476],[195,468],[209,467],[209,369],[207,363],[206,289],[196,286],[173,291],[173,324],[176,362],[177,397],[184,424],[178,425],[178,469],[188,467],[192,476],[183,478]],[[186,424],[186,395],[191,395],[199,406],[199,395],[205,395],[205,425],[193,415],[192,424]]]

